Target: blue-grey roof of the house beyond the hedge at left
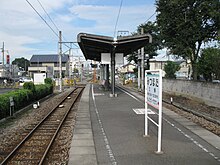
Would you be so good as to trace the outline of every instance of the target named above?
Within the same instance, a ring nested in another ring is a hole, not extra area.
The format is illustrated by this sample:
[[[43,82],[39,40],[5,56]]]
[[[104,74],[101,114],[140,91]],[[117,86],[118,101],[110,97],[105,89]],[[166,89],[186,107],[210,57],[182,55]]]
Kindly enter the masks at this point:
[[[62,62],[67,62],[69,60],[69,57],[68,55],[63,55],[61,59]],[[59,62],[59,56],[57,54],[33,55],[30,59],[30,62]]]

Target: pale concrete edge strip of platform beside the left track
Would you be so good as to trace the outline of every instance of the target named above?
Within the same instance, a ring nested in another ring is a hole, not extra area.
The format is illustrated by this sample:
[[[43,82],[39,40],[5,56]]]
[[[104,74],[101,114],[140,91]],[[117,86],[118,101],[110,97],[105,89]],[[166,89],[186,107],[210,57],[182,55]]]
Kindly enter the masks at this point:
[[[90,85],[87,85],[79,104],[69,152],[70,165],[97,165],[89,112],[89,91]]]

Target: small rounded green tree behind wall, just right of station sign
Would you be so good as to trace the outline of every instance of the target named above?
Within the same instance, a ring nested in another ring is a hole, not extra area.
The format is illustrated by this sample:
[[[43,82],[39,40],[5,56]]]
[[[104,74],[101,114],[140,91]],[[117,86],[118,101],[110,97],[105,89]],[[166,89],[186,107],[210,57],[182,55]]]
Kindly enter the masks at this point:
[[[172,61],[167,61],[167,64],[164,66],[164,71],[166,72],[165,77],[166,78],[176,78],[175,73],[180,70],[180,66]]]

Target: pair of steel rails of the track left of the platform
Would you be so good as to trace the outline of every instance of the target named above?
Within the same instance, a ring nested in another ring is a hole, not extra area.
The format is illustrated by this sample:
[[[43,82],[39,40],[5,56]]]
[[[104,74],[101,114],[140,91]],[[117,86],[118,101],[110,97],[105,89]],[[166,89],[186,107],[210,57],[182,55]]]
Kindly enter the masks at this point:
[[[73,104],[71,105],[70,109],[72,108],[72,106],[74,105],[74,103],[75,103],[75,101],[77,100],[78,96],[81,94],[81,92],[82,92],[83,89],[84,89],[84,87],[79,87],[79,88],[82,88],[82,89],[81,89],[81,91],[77,94],[77,97],[74,99],[74,102],[73,102]],[[27,141],[27,140],[31,137],[31,135],[37,130],[37,128],[39,128],[39,126],[42,125],[42,123],[59,107],[60,104],[62,104],[62,103],[67,99],[67,97],[69,97],[72,93],[74,93],[74,92],[75,92],[77,89],[79,89],[79,88],[74,88],[74,90],[72,90],[71,92],[69,92],[69,93],[67,94],[67,96],[65,96],[54,108],[52,108],[52,110],[28,133],[27,136],[25,136],[25,137],[23,138],[23,140],[9,153],[9,155],[1,162],[0,165],[5,165],[5,164],[7,164],[7,162],[12,159],[13,155],[15,154],[15,152],[22,146],[22,144],[24,144],[25,141]],[[70,109],[68,110],[68,113],[69,113]],[[65,116],[64,116],[65,118],[67,117],[68,113],[65,114]],[[65,121],[65,119],[62,120],[62,122],[64,122],[64,121]],[[61,126],[62,126],[62,124],[59,124],[58,129],[60,129]],[[58,132],[59,132],[59,130],[56,130],[55,133],[57,134]],[[56,137],[56,135],[54,134],[52,139],[54,140],[55,137]],[[53,141],[50,141],[49,145],[51,146],[52,143],[53,143]],[[40,160],[40,163],[41,163],[41,164],[43,163],[43,161],[44,161],[44,159],[45,159],[45,157],[46,157],[46,154],[48,153],[48,151],[49,151],[49,149],[50,149],[50,146],[47,147],[46,152],[44,152],[43,157],[42,157],[43,160],[42,160],[42,159]]]

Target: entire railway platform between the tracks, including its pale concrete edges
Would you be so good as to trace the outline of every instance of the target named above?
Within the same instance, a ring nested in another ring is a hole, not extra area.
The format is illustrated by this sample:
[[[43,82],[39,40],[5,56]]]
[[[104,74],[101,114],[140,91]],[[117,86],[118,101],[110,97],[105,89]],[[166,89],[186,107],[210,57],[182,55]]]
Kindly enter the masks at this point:
[[[143,137],[143,96],[119,88],[116,93],[118,97],[112,98],[98,84],[87,85],[78,109],[70,165],[220,164],[220,137],[164,107],[163,153],[156,154],[157,127],[150,123],[150,136]]]

